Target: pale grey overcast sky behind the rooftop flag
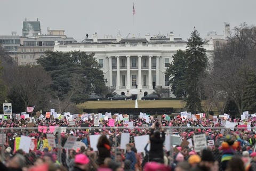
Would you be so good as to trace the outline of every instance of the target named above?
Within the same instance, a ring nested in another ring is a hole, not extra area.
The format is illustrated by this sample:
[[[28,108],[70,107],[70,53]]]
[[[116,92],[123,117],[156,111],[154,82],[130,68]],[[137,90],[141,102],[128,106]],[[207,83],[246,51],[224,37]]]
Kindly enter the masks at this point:
[[[173,31],[174,37],[187,39],[194,26],[204,37],[209,31],[223,34],[225,21],[231,28],[243,22],[255,25],[255,6],[254,0],[1,0],[0,35],[22,35],[23,20],[38,18],[42,34],[47,27],[62,29],[78,41],[86,33],[91,37],[97,32],[102,38],[116,36],[118,30],[122,37]]]

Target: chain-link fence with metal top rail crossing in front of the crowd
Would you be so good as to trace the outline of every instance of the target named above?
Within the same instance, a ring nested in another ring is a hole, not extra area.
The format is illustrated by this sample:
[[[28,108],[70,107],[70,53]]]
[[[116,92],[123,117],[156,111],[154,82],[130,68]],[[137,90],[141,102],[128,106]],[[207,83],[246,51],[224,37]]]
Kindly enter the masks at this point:
[[[221,170],[222,153],[219,148],[227,134],[235,134],[226,127],[183,126],[151,129],[147,125],[142,127],[132,125],[127,127],[2,127],[0,131],[2,161],[9,160],[14,153],[21,153],[26,158],[26,165],[30,167],[35,164],[37,158],[49,157],[45,154],[50,153],[54,162],[71,169],[75,154],[85,153],[91,159],[91,170],[104,162],[113,167],[123,167],[125,170],[127,167],[142,170],[145,163],[150,160],[150,145],[153,143],[149,142],[150,136],[156,136],[157,139],[165,137],[163,162],[168,166],[173,167],[182,160],[177,158],[179,153],[184,160],[187,160],[191,154],[199,154],[202,149],[209,148],[213,151],[215,160],[219,161]],[[249,135],[253,135],[250,131],[246,133],[244,129],[234,131],[241,136],[247,134],[248,138]],[[105,161],[97,147],[101,135],[106,135],[110,141],[110,159]],[[242,139],[245,142],[242,144],[242,149],[253,145],[249,144],[246,137]],[[241,153],[242,149],[240,151],[238,149],[238,153]],[[130,153],[130,150],[134,152]],[[116,162],[112,163],[111,160]]]

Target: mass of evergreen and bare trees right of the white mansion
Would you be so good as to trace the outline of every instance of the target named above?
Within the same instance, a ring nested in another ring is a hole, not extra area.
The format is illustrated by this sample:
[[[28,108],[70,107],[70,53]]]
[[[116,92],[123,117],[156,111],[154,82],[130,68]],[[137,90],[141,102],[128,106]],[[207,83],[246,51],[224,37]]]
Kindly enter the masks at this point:
[[[256,112],[255,40],[255,27],[235,27],[226,42],[214,48],[209,63],[204,40],[194,30],[186,51],[178,50],[167,67],[172,93],[182,97],[193,113],[202,111],[202,100],[220,113]]]

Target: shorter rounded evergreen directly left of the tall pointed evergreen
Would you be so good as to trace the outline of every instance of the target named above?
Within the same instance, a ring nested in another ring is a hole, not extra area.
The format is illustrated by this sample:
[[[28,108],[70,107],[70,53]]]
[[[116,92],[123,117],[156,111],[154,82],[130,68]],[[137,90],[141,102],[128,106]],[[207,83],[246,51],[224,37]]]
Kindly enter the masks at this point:
[[[172,93],[178,98],[186,97],[186,52],[178,50],[172,58],[173,62],[166,69],[166,75],[171,77],[169,83],[171,84]]]

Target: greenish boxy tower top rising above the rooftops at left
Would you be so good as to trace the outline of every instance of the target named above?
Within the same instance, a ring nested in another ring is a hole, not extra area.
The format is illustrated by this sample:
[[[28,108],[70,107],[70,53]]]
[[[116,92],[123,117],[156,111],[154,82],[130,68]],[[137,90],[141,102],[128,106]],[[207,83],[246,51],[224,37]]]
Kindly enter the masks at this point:
[[[22,28],[22,36],[23,37],[33,37],[41,35],[41,26],[40,21],[36,19],[36,21],[23,21],[23,28]]]

